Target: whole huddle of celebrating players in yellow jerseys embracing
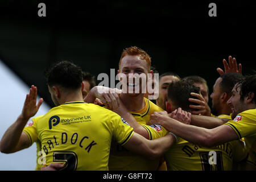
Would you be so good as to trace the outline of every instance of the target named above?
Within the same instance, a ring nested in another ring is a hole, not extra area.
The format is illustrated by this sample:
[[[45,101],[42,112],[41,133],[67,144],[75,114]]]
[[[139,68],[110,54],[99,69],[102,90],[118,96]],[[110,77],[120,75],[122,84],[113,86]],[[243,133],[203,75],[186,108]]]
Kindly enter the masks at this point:
[[[204,78],[168,72],[158,82],[138,47],[122,52],[121,90],[95,86],[78,65],[57,62],[46,73],[56,107],[29,121],[43,103],[32,85],[1,152],[36,142],[36,170],[255,170],[256,75],[242,76],[231,56],[224,67],[217,68],[211,111]],[[158,91],[156,104],[143,79]]]

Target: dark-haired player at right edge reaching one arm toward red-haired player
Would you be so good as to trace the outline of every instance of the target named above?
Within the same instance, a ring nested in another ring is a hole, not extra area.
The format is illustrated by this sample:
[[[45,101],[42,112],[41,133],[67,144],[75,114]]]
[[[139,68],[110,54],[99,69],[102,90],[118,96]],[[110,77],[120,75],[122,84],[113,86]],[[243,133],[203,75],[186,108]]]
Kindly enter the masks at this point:
[[[234,85],[232,96],[228,104],[232,109],[232,119],[220,119],[205,116],[195,116],[192,120],[201,121],[201,127],[184,125],[176,122],[162,113],[151,115],[150,123],[158,123],[166,127],[172,133],[200,144],[200,146],[212,147],[218,144],[244,138],[246,149],[249,152],[248,162],[250,169],[255,170],[256,162],[256,75],[246,76],[242,81]],[[223,125],[224,124],[224,125]],[[212,125],[217,127],[212,128]],[[211,126],[211,127],[210,127]],[[208,127],[209,129],[203,128]]]

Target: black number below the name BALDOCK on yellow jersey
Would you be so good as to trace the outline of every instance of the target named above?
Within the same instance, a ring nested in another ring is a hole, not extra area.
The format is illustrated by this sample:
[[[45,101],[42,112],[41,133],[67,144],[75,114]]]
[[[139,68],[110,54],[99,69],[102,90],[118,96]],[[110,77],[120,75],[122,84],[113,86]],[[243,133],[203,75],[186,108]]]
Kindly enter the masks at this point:
[[[53,162],[65,162],[65,166],[61,170],[75,171],[77,168],[77,155],[75,152],[53,152]]]

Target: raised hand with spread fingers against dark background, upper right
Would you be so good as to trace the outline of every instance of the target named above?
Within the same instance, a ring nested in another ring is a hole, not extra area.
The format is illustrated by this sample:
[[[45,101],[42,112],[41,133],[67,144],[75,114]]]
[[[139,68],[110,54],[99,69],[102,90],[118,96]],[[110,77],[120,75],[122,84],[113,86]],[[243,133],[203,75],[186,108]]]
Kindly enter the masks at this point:
[[[229,56],[229,63],[225,59],[223,59],[223,64],[225,71],[223,71],[221,68],[217,68],[217,72],[220,75],[223,75],[224,73],[239,73],[242,75],[242,65],[239,64],[237,67],[236,58],[232,58],[232,56]]]

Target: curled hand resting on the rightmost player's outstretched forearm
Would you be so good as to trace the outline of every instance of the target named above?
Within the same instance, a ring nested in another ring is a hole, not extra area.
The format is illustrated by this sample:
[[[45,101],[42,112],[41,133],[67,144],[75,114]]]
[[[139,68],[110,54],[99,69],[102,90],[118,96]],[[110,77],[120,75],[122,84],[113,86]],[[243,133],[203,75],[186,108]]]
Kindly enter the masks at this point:
[[[187,125],[191,122],[191,113],[182,110],[180,107],[172,111],[169,116],[172,119],[176,119],[179,122],[185,123]]]

